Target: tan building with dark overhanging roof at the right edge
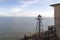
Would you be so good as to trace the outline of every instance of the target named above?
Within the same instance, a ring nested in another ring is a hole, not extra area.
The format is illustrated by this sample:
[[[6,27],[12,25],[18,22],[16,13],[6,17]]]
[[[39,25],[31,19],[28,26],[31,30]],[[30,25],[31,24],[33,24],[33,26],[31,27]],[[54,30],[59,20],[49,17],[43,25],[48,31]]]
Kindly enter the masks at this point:
[[[58,39],[60,40],[60,3],[51,5],[54,7],[55,29]]]

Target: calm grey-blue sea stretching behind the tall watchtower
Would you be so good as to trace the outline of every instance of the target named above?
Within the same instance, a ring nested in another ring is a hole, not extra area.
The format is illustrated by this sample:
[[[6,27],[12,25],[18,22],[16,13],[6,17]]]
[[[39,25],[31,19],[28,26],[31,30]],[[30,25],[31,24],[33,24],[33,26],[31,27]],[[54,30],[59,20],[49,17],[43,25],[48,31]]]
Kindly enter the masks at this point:
[[[35,32],[34,17],[0,17],[0,40],[21,40],[25,33]],[[54,19],[45,17],[42,20],[44,30],[54,25]]]

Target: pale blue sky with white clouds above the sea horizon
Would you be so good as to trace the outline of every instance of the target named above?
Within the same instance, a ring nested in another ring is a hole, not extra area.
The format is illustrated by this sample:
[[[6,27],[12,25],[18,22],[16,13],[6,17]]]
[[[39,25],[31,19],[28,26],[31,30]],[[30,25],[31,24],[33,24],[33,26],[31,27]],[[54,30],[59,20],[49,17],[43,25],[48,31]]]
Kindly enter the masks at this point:
[[[50,5],[56,3],[60,0],[0,0],[0,16],[54,17],[54,8]]]

